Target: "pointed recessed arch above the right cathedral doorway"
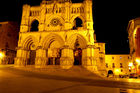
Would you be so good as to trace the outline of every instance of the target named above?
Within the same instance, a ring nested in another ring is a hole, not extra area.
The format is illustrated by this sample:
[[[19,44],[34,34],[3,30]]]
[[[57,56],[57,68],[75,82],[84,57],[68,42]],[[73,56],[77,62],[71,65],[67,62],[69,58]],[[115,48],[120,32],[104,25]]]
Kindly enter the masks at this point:
[[[80,34],[73,34],[69,37],[67,44],[70,48],[74,48],[75,42],[78,42],[80,44],[80,48],[86,48],[87,41],[86,39],[80,35]]]

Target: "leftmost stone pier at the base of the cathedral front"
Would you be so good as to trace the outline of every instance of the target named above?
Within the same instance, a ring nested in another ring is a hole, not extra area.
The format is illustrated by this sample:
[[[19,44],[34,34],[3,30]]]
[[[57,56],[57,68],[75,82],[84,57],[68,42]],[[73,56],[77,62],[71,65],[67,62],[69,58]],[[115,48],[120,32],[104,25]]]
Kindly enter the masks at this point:
[[[29,51],[21,47],[17,48],[17,55],[15,58],[15,66],[26,66],[28,62]]]

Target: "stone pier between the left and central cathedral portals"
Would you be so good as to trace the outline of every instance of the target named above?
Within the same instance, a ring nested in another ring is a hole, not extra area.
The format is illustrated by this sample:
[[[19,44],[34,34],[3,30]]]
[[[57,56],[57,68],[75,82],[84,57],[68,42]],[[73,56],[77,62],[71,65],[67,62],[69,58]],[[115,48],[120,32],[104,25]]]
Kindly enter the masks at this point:
[[[47,64],[48,58],[46,57],[46,50],[41,46],[38,46],[36,49],[36,59],[35,59],[35,67],[45,67]]]

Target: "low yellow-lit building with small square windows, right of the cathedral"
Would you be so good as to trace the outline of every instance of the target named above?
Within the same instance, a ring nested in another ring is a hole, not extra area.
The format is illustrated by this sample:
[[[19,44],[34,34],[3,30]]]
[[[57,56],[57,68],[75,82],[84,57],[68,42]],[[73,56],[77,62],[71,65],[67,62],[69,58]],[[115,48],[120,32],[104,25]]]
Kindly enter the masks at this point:
[[[114,75],[129,75],[134,73],[134,68],[130,66],[131,57],[129,54],[106,54],[105,63],[107,71],[112,71]]]

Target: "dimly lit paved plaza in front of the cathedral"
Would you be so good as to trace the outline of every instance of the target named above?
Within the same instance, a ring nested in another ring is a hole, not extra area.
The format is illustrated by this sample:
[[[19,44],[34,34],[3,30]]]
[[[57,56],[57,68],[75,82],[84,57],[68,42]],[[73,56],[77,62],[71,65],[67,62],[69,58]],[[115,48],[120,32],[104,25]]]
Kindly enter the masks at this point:
[[[82,67],[39,70],[10,65],[0,66],[0,93],[140,93],[140,80],[100,77]]]

